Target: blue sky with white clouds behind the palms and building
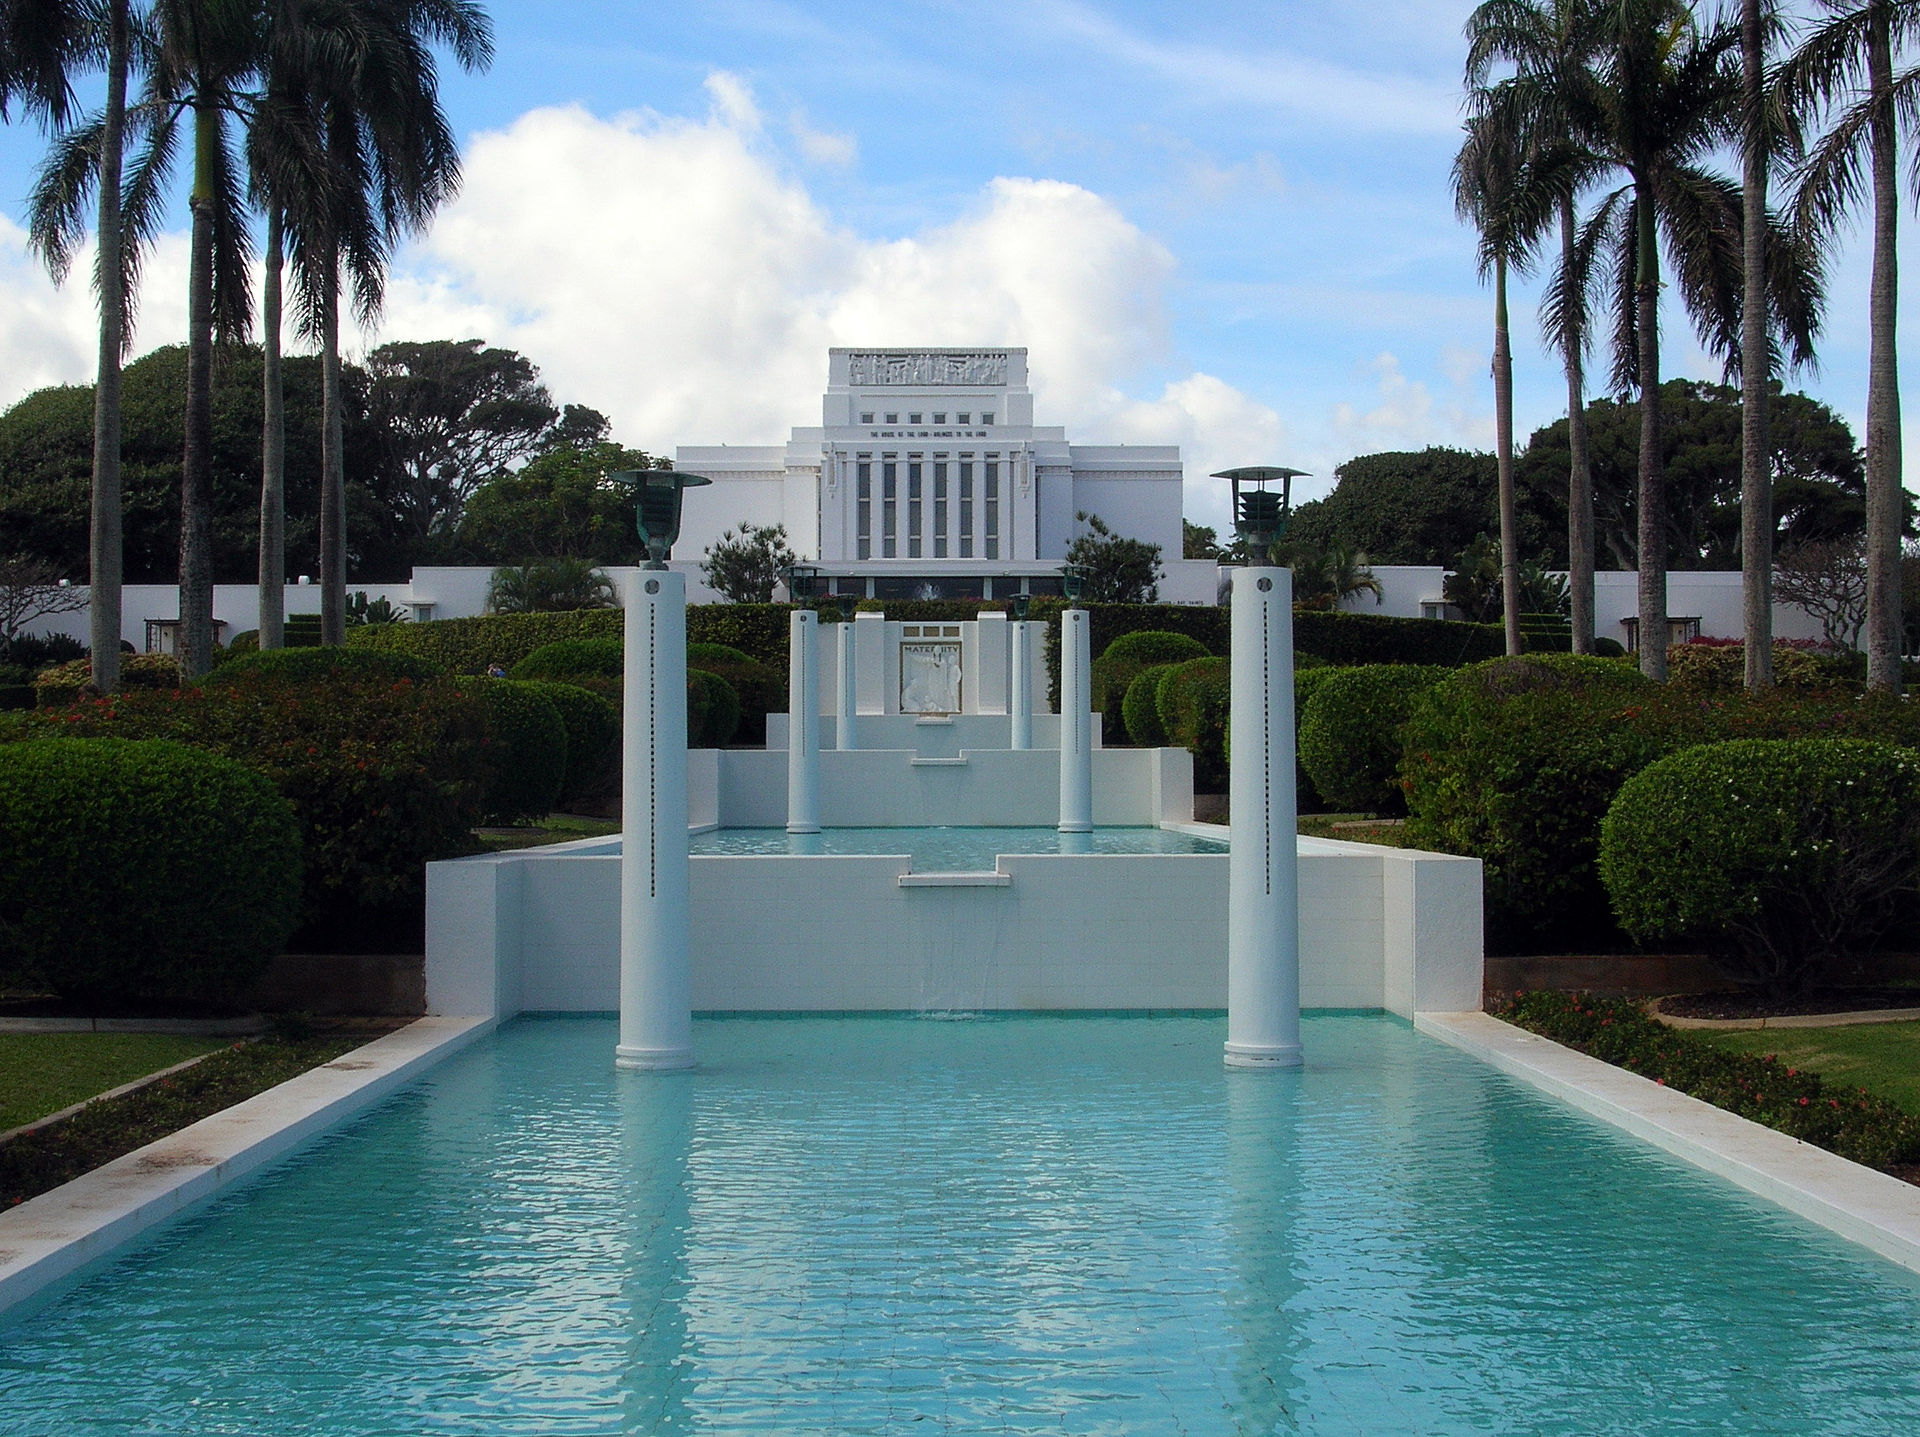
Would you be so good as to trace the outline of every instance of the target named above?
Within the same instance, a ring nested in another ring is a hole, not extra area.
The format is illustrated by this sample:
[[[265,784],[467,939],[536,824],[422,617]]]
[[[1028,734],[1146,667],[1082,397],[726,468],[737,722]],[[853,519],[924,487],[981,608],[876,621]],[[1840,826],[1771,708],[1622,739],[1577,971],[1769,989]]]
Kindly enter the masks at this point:
[[[1448,194],[1467,10],[495,4],[492,71],[445,79],[467,192],[369,342],[513,344],[649,448],[814,423],[828,342],[1027,344],[1041,423],[1181,442],[1206,521],[1202,467],[1286,461],[1315,492],[1352,453],[1490,446],[1490,298]],[[0,136],[15,223],[38,152]],[[1859,250],[1805,382],[1855,425]],[[142,348],[177,336],[182,277],[175,236]],[[0,304],[0,402],[86,378],[86,296],[17,231]],[[1524,436],[1565,384],[1530,294],[1517,321]],[[1667,334],[1670,373],[1716,377]]]

